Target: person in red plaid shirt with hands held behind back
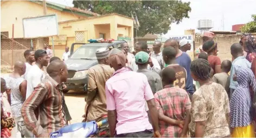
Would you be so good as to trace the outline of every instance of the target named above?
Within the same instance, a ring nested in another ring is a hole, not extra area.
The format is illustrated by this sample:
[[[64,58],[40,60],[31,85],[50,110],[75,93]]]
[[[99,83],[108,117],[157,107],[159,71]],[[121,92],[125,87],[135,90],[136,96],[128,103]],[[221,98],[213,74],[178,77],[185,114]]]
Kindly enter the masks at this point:
[[[155,94],[162,137],[187,137],[191,102],[184,89],[174,86],[175,81],[175,70],[165,68],[162,71],[164,89]]]

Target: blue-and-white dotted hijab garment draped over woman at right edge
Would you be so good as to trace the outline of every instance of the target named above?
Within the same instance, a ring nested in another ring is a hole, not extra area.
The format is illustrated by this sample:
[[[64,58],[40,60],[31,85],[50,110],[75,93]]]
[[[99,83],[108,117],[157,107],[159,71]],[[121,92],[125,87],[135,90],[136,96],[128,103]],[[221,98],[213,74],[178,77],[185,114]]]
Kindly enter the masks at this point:
[[[250,115],[252,100],[249,91],[249,83],[251,82],[253,86],[256,86],[251,69],[240,68],[236,74],[238,87],[234,91],[230,102],[230,126],[232,128],[245,127],[252,123],[252,117]]]

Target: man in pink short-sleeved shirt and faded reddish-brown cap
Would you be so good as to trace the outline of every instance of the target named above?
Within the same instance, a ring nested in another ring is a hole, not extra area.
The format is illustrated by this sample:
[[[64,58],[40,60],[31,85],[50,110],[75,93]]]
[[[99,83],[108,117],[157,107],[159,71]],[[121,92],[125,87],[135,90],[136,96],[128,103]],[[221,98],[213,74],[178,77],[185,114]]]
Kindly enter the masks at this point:
[[[118,49],[110,51],[108,60],[115,70],[106,82],[111,137],[160,137],[156,103],[146,76],[125,67],[127,59]],[[145,110],[145,100],[153,128]]]

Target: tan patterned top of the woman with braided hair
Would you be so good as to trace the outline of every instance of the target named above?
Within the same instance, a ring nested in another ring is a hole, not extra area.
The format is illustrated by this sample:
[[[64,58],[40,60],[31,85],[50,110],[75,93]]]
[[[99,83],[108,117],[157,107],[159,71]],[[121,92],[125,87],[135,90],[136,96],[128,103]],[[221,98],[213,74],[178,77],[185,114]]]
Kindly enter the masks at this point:
[[[226,114],[229,113],[228,95],[220,84],[204,84],[196,90],[191,109],[191,137],[195,136],[195,123],[199,121],[206,122],[203,137],[230,135],[226,119]]]

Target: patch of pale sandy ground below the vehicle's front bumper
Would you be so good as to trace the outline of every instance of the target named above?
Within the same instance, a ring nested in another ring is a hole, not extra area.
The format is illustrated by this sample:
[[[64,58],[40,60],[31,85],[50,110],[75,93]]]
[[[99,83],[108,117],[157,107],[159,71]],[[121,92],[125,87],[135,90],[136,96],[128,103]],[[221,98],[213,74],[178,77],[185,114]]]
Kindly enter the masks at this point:
[[[1,77],[8,76],[8,74],[1,74]],[[85,112],[85,97],[83,92],[69,91],[65,94],[65,101],[72,117],[71,123],[78,123],[82,121],[82,115]]]

